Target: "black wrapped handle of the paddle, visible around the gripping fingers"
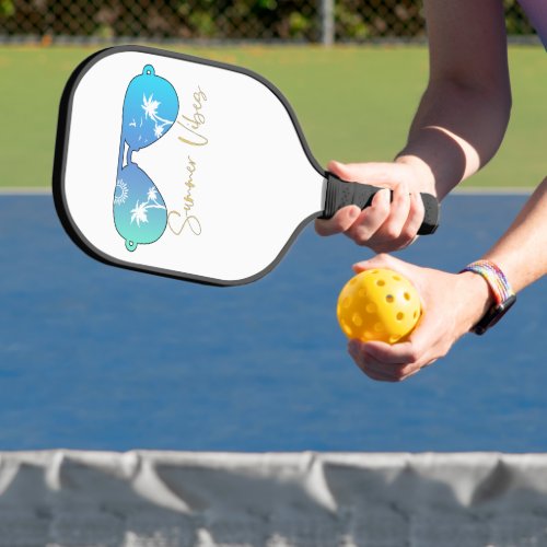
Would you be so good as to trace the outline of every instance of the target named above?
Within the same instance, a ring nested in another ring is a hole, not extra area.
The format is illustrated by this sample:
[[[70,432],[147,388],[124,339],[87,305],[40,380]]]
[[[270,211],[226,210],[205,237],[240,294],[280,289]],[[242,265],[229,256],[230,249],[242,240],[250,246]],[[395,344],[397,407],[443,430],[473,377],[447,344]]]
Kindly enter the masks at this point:
[[[370,184],[347,183],[333,175],[333,173],[326,173],[325,176],[327,179],[327,190],[325,210],[319,217],[322,219],[330,219],[336,211],[349,205],[357,205],[361,209],[364,209],[371,205],[374,195],[383,189]],[[420,235],[432,234],[439,226],[439,201],[431,194],[420,194],[420,196],[426,213],[418,233]],[[393,191],[391,191],[391,199],[393,199]]]

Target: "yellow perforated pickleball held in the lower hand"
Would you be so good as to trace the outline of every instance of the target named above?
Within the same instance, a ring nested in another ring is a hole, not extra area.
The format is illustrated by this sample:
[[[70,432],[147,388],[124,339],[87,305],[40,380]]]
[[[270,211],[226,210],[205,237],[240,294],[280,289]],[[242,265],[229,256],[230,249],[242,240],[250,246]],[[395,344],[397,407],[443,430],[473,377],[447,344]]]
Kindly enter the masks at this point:
[[[420,296],[397,271],[365,270],[341,290],[336,315],[348,338],[396,344],[404,341],[418,323]]]

